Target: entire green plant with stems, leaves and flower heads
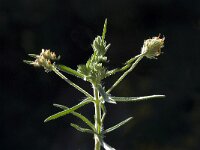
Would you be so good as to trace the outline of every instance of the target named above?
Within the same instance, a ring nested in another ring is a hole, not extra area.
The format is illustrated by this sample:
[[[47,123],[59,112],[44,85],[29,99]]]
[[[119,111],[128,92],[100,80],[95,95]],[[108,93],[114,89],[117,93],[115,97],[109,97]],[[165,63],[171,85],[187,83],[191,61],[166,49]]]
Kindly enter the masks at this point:
[[[144,45],[141,50],[141,54],[138,54],[135,57],[130,58],[124,66],[119,68],[115,68],[112,70],[108,70],[104,64],[108,63],[106,53],[110,47],[110,44],[107,44],[105,41],[107,31],[107,20],[105,20],[103,32],[101,36],[97,36],[93,43],[92,49],[93,54],[87,60],[86,64],[78,65],[77,70],[72,69],[68,66],[62,64],[56,64],[56,60],[60,57],[56,57],[54,52],[50,50],[42,50],[39,55],[29,54],[30,57],[34,58],[34,61],[25,60],[24,62],[33,65],[35,67],[43,67],[46,72],[53,71],[60,78],[62,78],[65,82],[76,88],[78,91],[84,94],[84,99],[75,106],[67,107],[60,104],[54,104],[55,107],[61,109],[61,111],[53,114],[45,119],[44,122],[48,122],[51,120],[58,119],[60,117],[64,117],[65,115],[72,114],[73,116],[82,120],[87,127],[81,127],[77,124],[71,123],[71,126],[76,130],[89,133],[94,136],[95,140],[95,150],[100,150],[103,147],[105,150],[115,150],[113,147],[105,143],[104,137],[105,134],[114,131],[115,129],[125,125],[129,122],[132,117],[121,121],[120,123],[110,127],[104,128],[104,119],[106,117],[106,104],[118,104],[120,102],[138,102],[143,100],[148,100],[152,98],[163,98],[164,95],[150,95],[150,96],[142,96],[142,97],[119,97],[113,96],[110,93],[112,90],[119,85],[119,83],[137,66],[137,64],[144,58],[155,58],[160,55],[161,48],[164,46],[164,38],[154,37],[152,39],[147,39],[144,42]],[[66,75],[73,75],[79,79],[83,79],[84,81],[89,82],[93,88],[93,94],[87,92],[87,89],[81,88],[79,85],[69,80]],[[108,76],[112,76],[115,73],[122,72],[122,75],[113,83],[110,88],[103,87],[102,82]],[[78,109],[83,106],[88,105],[89,103],[94,104],[94,120],[90,121],[83,114],[78,113]],[[94,123],[93,123],[94,122]]]

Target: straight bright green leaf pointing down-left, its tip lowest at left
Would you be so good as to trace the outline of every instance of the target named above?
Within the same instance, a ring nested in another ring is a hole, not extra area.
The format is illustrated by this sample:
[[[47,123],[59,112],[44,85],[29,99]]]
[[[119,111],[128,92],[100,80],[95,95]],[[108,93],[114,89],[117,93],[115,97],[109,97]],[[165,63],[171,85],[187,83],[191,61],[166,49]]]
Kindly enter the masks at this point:
[[[58,112],[58,113],[56,113],[56,114],[54,114],[54,115],[52,115],[52,116],[49,116],[47,119],[44,120],[44,122],[48,122],[48,121],[50,121],[50,120],[54,120],[54,119],[57,119],[57,118],[59,118],[59,117],[65,116],[65,115],[67,115],[67,114],[69,114],[69,113],[75,111],[76,109],[78,109],[78,108],[80,108],[80,107],[82,107],[82,106],[84,106],[84,105],[90,103],[90,102],[91,102],[91,101],[89,101],[89,100],[87,100],[87,101],[82,101],[82,102],[80,102],[79,104],[73,106],[72,108],[63,110],[63,111]]]

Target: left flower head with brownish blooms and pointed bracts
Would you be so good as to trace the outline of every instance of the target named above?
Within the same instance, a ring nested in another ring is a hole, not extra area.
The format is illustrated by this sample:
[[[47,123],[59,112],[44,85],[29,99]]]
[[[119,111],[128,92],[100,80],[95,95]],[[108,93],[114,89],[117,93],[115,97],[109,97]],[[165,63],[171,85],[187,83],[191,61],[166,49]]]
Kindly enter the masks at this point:
[[[35,58],[35,61],[24,60],[25,63],[33,65],[34,67],[43,67],[46,72],[53,69],[53,64],[51,61],[58,60],[60,56],[56,57],[55,52],[51,52],[49,49],[42,49],[40,55],[29,54],[29,56]]]

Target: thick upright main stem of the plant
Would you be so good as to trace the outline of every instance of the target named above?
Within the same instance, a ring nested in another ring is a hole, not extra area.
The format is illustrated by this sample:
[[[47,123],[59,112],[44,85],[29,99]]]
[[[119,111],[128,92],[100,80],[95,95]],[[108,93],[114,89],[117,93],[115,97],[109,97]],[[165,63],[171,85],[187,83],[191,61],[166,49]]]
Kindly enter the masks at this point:
[[[99,100],[99,92],[96,86],[93,85],[93,90],[94,90],[94,107],[95,107],[95,128],[97,135],[94,134],[94,140],[95,140],[95,148],[94,150],[100,150],[101,149],[101,143],[100,143],[100,135],[101,135],[101,127],[102,127],[102,122],[101,122],[101,102]]]

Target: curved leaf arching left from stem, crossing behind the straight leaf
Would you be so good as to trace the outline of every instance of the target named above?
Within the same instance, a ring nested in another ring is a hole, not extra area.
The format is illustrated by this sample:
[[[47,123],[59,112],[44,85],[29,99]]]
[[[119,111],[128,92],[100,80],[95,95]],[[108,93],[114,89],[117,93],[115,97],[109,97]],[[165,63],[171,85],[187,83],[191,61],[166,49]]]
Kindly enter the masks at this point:
[[[63,110],[67,110],[69,109],[68,107],[64,106],[64,105],[59,105],[59,104],[53,104],[53,106],[61,108]],[[83,122],[85,122],[93,131],[95,131],[95,126],[83,115],[81,115],[80,113],[77,113],[75,111],[71,112],[72,115],[78,117],[79,119],[81,119]]]

